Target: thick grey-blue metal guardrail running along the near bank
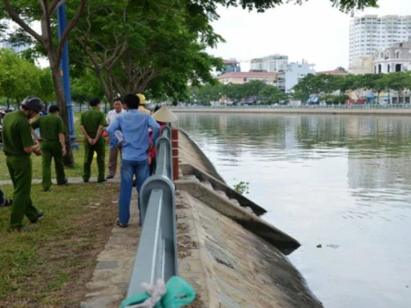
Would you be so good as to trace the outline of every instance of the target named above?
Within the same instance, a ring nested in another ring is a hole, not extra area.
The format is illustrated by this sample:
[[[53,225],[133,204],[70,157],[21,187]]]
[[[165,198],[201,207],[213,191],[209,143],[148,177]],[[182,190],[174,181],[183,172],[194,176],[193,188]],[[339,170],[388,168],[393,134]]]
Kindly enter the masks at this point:
[[[142,232],[127,297],[144,292],[141,284],[164,283],[178,274],[175,187],[171,152],[171,130],[164,127],[155,143],[155,174],[143,184],[138,196]]]

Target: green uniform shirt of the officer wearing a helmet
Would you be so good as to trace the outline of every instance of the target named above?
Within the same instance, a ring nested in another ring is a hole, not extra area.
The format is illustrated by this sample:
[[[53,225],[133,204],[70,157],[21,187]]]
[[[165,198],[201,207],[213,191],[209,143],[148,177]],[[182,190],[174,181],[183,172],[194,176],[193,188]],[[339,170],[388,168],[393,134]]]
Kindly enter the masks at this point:
[[[30,155],[24,148],[34,145],[32,127],[21,110],[6,114],[3,120],[3,152],[5,155]]]

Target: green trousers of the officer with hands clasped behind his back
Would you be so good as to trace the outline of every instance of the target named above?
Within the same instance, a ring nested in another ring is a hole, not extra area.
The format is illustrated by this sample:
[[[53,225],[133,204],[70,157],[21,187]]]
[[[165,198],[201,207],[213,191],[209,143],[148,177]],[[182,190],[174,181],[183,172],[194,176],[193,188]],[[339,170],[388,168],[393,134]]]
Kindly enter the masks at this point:
[[[87,140],[84,140],[83,181],[88,181],[90,179],[90,166],[92,162],[92,157],[95,152],[97,153],[97,169],[99,170],[97,181],[102,182],[105,180],[105,177],[104,177],[105,140],[103,136],[101,136],[99,140],[93,145],[89,144]]]

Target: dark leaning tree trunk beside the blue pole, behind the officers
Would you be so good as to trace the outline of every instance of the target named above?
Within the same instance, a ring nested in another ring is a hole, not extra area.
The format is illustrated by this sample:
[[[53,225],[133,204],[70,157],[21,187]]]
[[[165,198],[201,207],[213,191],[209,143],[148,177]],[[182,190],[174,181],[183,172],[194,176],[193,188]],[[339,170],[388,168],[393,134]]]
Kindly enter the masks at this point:
[[[64,120],[64,124],[66,125],[66,156],[64,157],[64,165],[73,167],[74,166],[74,157],[73,151],[71,150],[71,140],[70,140],[70,133],[69,133],[69,114],[67,113],[67,105],[66,105],[66,97],[64,97],[64,90],[63,90],[63,81],[60,75],[60,66],[55,57],[50,56],[49,54],[49,62],[50,62],[50,69],[51,75],[53,76],[53,84],[54,84],[54,92],[55,92],[55,102],[60,108],[60,116]]]

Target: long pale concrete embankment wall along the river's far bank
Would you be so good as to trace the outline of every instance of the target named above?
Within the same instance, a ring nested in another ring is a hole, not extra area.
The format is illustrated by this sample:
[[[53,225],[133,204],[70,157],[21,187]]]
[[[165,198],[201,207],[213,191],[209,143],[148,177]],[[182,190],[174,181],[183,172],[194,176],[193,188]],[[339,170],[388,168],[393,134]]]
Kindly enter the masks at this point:
[[[230,113],[230,114],[360,114],[360,115],[393,115],[411,116],[411,108],[175,108],[177,113]]]

